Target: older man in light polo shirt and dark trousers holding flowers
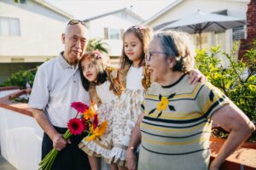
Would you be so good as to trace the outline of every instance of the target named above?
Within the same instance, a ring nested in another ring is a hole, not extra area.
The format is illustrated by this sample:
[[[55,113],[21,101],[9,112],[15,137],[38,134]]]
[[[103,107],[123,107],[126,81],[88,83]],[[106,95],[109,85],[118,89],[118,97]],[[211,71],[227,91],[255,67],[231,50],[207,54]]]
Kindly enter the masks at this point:
[[[65,45],[55,59],[38,68],[28,105],[40,127],[44,129],[42,159],[53,148],[60,150],[52,169],[90,169],[87,155],[77,144],[83,136],[63,139],[67,122],[76,115],[70,107],[74,101],[89,104],[90,96],[81,85],[79,57],[84,54],[89,32],[80,20],[70,20],[62,42]]]

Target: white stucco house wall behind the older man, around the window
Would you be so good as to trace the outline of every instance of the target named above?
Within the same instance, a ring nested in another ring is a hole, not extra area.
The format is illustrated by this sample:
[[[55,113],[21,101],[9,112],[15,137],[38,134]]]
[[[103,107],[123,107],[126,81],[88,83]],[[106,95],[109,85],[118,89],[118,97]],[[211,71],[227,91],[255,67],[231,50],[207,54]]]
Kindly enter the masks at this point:
[[[20,36],[0,36],[0,62],[10,62],[12,58],[43,62],[63,49],[61,33],[67,17],[32,1],[20,4],[3,0],[0,11],[1,17],[20,19]]]

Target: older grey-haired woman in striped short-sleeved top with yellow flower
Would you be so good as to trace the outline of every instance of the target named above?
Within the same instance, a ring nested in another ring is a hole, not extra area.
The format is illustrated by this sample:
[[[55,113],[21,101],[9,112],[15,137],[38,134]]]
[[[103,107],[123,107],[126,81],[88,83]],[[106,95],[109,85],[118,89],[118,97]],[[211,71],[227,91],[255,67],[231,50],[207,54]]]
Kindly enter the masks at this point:
[[[135,150],[140,143],[138,169],[218,169],[255,130],[210,82],[189,83],[194,57],[195,48],[183,32],[161,32],[150,42],[148,69],[157,81],[148,88],[143,114],[132,132],[129,169],[137,169]],[[209,166],[212,121],[230,135]]]

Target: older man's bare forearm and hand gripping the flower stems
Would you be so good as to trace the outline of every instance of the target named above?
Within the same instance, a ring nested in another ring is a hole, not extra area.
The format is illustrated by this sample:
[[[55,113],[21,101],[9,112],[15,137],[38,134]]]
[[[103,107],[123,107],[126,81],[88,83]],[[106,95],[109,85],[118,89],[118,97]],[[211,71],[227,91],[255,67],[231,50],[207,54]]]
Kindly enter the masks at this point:
[[[55,127],[53,127],[49,122],[48,117],[45,116],[44,111],[32,108],[30,111],[32,111],[32,115],[38,122],[39,126],[43,128],[44,132],[47,133],[49,138],[53,141],[53,147],[56,150],[62,150],[66,146],[67,141],[62,138],[61,133],[58,133],[55,130]]]

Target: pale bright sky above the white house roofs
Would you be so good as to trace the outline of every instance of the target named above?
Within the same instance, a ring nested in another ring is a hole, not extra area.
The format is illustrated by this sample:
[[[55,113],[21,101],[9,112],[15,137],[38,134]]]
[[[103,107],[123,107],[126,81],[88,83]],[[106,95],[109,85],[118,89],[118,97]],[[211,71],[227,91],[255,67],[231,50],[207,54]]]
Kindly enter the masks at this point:
[[[174,0],[44,0],[61,8],[75,19],[85,20],[120,8],[129,8],[134,13],[148,20]]]

